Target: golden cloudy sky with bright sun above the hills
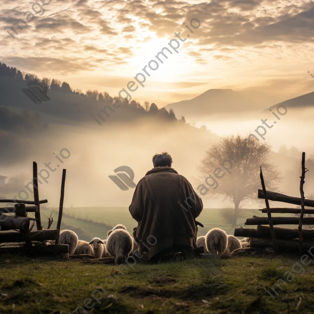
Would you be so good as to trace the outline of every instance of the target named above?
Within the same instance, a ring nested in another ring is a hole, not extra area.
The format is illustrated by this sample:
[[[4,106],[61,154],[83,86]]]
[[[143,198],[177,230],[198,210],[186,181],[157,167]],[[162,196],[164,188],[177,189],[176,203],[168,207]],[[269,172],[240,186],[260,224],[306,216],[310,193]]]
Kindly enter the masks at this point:
[[[280,100],[313,90],[307,73],[314,73],[312,1],[34,3],[0,0],[0,61],[39,78],[66,81],[83,92],[118,95],[163,47],[172,54],[161,56],[158,69],[147,68],[144,87],[138,84],[132,93],[141,103],[148,100],[161,107],[212,88],[254,89]],[[26,11],[35,18],[23,16]],[[17,19],[27,17],[26,27],[15,27],[18,35],[10,30]],[[192,28],[191,19],[200,26]],[[187,39],[180,41],[175,32]],[[180,43],[178,53],[168,45],[172,39]]]

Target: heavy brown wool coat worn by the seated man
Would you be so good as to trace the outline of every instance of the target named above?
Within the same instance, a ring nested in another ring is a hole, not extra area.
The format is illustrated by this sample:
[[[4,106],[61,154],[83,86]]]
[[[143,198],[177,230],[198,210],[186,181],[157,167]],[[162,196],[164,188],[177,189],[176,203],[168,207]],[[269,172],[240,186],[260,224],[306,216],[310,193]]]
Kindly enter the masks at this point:
[[[197,247],[194,220],[201,213],[203,202],[193,192],[190,182],[170,167],[153,168],[138,182],[129,211],[138,222],[133,237],[140,244],[143,260],[149,260],[172,245]],[[190,196],[193,201],[187,200]],[[184,202],[186,200],[190,207]],[[149,242],[156,244],[149,245]]]

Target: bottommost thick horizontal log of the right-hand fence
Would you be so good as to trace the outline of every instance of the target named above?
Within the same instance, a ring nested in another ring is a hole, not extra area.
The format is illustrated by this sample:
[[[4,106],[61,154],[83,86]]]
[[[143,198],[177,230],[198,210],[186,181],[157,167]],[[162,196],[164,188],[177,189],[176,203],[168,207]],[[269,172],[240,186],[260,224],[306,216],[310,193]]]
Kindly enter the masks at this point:
[[[252,238],[252,247],[272,247],[273,241],[271,239],[265,238]],[[280,251],[296,251],[299,252],[299,240],[277,240],[278,247]],[[310,247],[313,246],[313,242],[306,241],[303,243],[302,252],[309,250]]]

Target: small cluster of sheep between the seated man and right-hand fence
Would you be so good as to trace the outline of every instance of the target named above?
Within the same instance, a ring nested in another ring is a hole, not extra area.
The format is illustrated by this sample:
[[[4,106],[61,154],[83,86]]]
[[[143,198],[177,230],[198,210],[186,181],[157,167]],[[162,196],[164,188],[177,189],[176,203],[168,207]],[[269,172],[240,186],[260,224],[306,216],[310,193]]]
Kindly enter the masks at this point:
[[[222,254],[230,254],[236,249],[248,246],[248,238],[241,241],[232,235],[227,235],[224,230],[213,228],[205,236],[196,239],[197,247],[203,246],[204,253],[211,253],[216,258]]]

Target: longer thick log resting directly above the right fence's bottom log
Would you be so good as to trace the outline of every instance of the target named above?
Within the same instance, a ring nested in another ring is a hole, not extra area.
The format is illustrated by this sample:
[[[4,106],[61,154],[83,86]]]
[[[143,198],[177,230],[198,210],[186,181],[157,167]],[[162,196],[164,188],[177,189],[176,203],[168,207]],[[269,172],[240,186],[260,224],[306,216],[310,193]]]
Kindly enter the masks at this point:
[[[280,228],[274,227],[276,238],[282,240],[291,240],[299,238],[299,230],[296,228]],[[303,239],[313,240],[314,239],[314,229],[303,229]],[[258,225],[257,235],[255,238],[271,238],[269,226]]]

